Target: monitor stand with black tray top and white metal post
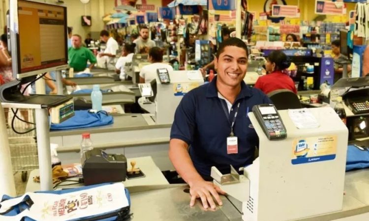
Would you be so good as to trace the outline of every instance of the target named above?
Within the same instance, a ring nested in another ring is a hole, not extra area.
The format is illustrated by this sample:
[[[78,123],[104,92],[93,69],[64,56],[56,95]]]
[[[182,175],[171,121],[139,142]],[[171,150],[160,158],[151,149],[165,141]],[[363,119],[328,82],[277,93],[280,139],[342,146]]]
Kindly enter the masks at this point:
[[[35,110],[36,138],[38,166],[40,169],[41,191],[53,190],[51,153],[50,153],[50,129],[49,108],[61,105],[72,97],[63,95],[30,95],[24,96],[20,92],[21,80],[0,86],[0,99],[3,108],[25,108]],[[0,137],[2,139],[2,137]],[[1,142],[2,140],[0,140]],[[3,179],[0,174],[0,179]]]

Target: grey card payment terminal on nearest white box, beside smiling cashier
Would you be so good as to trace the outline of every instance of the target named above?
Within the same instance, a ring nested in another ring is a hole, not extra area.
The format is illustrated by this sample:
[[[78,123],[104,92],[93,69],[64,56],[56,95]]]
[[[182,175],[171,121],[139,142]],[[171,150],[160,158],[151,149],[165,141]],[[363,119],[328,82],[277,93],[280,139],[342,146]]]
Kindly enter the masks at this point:
[[[268,139],[277,140],[287,137],[287,130],[274,105],[255,105],[252,112]]]

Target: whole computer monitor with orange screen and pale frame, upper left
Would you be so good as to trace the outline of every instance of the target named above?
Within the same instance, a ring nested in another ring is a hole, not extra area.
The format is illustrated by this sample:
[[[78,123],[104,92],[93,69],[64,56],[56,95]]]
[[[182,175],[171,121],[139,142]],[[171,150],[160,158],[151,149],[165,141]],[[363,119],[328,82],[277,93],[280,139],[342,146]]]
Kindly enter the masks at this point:
[[[66,7],[36,0],[9,4],[14,78],[67,68]]]

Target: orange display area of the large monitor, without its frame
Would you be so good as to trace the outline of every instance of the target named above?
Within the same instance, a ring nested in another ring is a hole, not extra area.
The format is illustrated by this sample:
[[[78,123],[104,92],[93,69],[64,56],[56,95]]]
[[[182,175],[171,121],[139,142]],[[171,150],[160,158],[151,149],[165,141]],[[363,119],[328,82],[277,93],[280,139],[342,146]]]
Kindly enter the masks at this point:
[[[18,72],[67,64],[66,8],[18,0]]]

